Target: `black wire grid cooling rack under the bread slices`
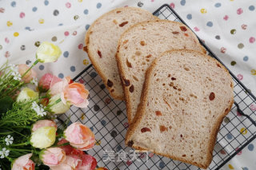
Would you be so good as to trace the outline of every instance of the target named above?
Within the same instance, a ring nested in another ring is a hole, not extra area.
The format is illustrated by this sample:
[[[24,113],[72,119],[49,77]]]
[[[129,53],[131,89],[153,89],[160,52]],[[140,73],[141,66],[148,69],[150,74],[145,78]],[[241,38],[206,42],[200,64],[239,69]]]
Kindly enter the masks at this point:
[[[154,12],[154,15],[161,19],[183,22],[182,18],[179,18],[178,14],[168,5],[161,6]],[[202,43],[202,45],[204,44]],[[218,57],[206,45],[204,46],[209,55],[219,61]],[[238,81],[233,73],[230,74],[234,80],[235,102],[230,113],[222,122],[214,147],[214,158],[208,169],[222,168],[242,148],[256,138],[256,124],[253,121],[256,120],[256,97]],[[72,122],[81,121],[91,128],[97,142],[88,153],[98,160],[99,167],[110,170],[200,169],[177,160],[150,152],[136,152],[132,148],[126,147],[124,140],[129,125],[126,118],[125,102],[116,101],[110,97],[101,77],[98,76],[92,65],[79,73],[74,81],[85,84],[86,89],[89,89],[90,104],[87,109],[71,107],[66,114],[58,118],[65,121],[67,117],[70,117]]]

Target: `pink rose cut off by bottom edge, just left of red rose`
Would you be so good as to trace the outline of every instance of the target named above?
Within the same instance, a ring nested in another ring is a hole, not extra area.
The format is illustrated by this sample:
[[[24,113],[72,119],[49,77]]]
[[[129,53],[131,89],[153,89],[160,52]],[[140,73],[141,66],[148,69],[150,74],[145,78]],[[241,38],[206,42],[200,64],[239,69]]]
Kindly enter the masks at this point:
[[[50,166],[51,170],[75,170],[82,164],[82,160],[78,156],[66,156],[66,160],[57,166]],[[85,169],[84,169],[85,170]]]

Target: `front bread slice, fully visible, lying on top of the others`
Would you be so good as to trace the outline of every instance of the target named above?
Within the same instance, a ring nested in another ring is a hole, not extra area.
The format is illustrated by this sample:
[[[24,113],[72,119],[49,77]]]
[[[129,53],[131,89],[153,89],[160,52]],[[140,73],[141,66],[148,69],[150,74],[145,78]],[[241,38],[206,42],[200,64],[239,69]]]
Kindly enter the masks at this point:
[[[167,51],[147,70],[126,144],[207,168],[233,101],[233,81],[222,64],[194,50]]]

